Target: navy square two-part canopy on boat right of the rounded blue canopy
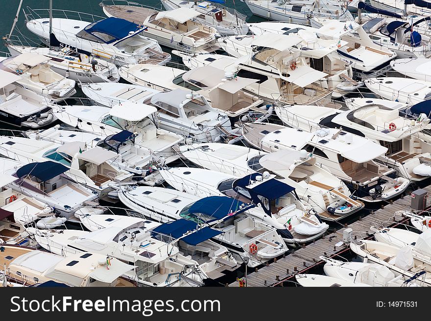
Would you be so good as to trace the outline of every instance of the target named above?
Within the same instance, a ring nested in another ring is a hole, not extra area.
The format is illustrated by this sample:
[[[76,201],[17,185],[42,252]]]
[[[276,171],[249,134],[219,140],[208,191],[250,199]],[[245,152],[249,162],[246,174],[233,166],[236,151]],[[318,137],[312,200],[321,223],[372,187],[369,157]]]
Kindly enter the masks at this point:
[[[250,181],[251,180],[255,181],[257,176],[262,176],[262,174],[253,173],[251,175],[247,175],[235,181],[234,184],[235,186],[247,189],[250,193],[263,196],[268,200],[279,198],[295,190],[294,187],[291,187],[290,185],[287,185],[286,183],[283,183],[275,178],[268,179],[251,189],[248,188],[247,186],[250,184]]]

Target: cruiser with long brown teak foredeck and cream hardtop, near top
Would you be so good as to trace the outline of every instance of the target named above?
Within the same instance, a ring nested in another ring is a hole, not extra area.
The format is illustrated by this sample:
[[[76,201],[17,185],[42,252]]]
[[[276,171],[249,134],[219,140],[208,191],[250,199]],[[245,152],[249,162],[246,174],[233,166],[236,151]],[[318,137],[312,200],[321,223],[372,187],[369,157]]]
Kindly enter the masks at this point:
[[[215,27],[203,24],[196,18],[201,13],[180,7],[169,11],[148,10],[145,7],[107,6],[102,5],[104,13],[113,19],[125,19],[130,23],[143,26],[146,37],[154,39],[159,44],[173,49],[188,52],[208,53],[219,49],[216,45],[218,32]]]

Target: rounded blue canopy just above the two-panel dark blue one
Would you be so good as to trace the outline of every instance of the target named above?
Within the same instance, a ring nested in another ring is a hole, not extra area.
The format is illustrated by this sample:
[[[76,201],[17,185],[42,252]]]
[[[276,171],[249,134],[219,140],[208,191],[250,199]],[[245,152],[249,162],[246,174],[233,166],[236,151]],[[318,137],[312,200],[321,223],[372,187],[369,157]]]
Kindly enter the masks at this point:
[[[189,208],[190,214],[204,214],[207,216],[206,223],[216,221],[229,216],[237,215],[254,205],[240,202],[227,196],[210,196],[202,198],[193,203]]]

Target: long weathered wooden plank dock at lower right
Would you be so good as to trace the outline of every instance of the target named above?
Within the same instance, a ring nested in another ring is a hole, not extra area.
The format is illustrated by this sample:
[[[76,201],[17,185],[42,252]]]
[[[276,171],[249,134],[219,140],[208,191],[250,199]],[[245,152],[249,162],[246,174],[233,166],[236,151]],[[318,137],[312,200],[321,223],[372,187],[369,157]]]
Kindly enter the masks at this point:
[[[431,185],[424,187],[424,190],[431,193]],[[410,210],[411,196],[406,195],[391,204],[387,204],[382,209],[371,211],[364,217],[358,216],[358,220],[345,225],[335,232],[325,234],[321,238],[311,242],[305,247],[289,250],[282,258],[274,259],[266,266],[261,266],[255,270],[248,269],[247,286],[283,286],[284,281],[294,281],[296,274],[306,273],[318,264],[324,263],[319,257],[328,256],[337,259],[337,255],[349,250],[348,244],[336,247],[335,244],[343,241],[343,232],[347,228],[353,230],[353,235],[361,234],[364,238],[372,237],[372,225],[395,227],[406,223],[409,218],[395,215],[397,211]],[[355,233],[356,232],[356,233]],[[355,236],[353,236],[355,237]],[[226,286],[238,287],[238,281]]]

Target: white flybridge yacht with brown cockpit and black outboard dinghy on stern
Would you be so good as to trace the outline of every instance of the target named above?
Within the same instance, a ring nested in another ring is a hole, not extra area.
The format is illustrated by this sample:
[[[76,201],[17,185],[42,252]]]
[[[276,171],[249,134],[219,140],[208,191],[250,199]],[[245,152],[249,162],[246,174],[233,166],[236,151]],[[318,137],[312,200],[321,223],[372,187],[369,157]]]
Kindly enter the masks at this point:
[[[252,146],[273,152],[307,150],[331,173],[346,182],[364,202],[388,200],[406,191],[409,180],[391,178],[395,172],[375,159],[387,148],[372,140],[335,128],[313,132],[269,123],[242,125],[242,136]]]

